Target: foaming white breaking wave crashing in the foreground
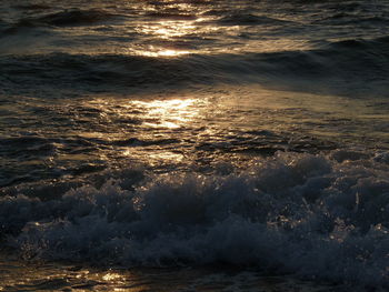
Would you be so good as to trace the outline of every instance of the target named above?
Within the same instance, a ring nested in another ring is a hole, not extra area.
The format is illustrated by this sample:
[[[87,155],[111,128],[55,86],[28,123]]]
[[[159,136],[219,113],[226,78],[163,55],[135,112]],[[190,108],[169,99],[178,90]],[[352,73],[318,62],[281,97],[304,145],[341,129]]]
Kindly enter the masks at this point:
[[[123,188],[130,174],[57,199],[6,195],[1,234],[28,259],[222,262],[388,288],[388,164],[347,155],[278,153],[225,175],[151,175]]]

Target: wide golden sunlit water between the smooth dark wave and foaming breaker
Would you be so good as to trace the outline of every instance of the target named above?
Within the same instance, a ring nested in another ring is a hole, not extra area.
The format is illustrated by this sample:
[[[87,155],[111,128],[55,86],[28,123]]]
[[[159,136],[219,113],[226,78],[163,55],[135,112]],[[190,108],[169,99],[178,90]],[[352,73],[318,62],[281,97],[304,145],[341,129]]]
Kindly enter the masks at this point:
[[[250,144],[257,143],[256,132],[268,133],[258,140],[263,148],[275,143],[278,135],[295,132],[345,141],[353,139],[355,123],[363,125],[360,128],[366,137],[387,139],[387,132],[383,137],[368,130],[375,117],[366,115],[362,101],[357,104],[340,97],[267,90],[260,85],[219,85],[211,92],[167,89],[128,95],[97,94],[80,102],[77,107],[60,107],[61,112],[74,117],[74,127],[67,134],[86,139],[97,151],[60,153],[57,159],[63,163],[88,161],[94,165],[102,161],[110,168],[144,163],[153,170],[167,165],[176,170],[207,168],[221,155],[230,160],[249,158],[251,149],[257,151]],[[351,122],[343,123],[345,119]],[[283,142],[280,143],[277,147],[283,149]]]

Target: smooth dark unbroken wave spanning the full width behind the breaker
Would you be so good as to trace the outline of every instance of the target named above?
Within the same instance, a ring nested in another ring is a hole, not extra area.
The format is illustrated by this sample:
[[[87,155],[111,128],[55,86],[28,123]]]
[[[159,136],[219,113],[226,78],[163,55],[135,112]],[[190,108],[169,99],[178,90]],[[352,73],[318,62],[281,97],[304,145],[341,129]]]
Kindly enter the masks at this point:
[[[67,53],[6,56],[0,58],[4,73],[0,78],[4,84],[24,83],[32,88],[72,84],[74,89],[87,87],[100,91],[150,84],[188,87],[218,82],[262,82],[303,89],[301,82],[311,87],[316,84],[318,90],[338,90],[336,87],[340,83],[343,89],[372,84],[369,90],[382,93],[388,85],[388,37],[353,39],[307,51],[178,58]]]

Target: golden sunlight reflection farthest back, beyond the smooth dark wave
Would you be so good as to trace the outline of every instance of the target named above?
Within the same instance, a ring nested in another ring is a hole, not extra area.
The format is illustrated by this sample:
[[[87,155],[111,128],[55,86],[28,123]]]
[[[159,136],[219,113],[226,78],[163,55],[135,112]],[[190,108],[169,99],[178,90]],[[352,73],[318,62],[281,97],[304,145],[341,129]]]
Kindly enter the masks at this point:
[[[192,11],[193,7],[180,3],[172,3],[173,9],[178,7],[182,11]],[[159,13],[152,10],[153,13]],[[172,19],[154,19],[137,23],[134,31],[151,42],[140,46],[128,47],[127,53],[152,57],[174,58],[190,53],[215,54],[215,53],[245,53],[277,52],[286,50],[302,50],[311,47],[308,41],[301,39],[265,37],[261,39],[251,38],[250,34],[258,34],[253,28],[246,24],[218,26],[215,24],[217,17],[207,16],[207,11],[194,11],[193,14],[177,14]],[[163,16],[163,13],[161,13]],[[162,17],[163,18],[163,17]],[[176,18],[176,19],[174,19]],[[271,28],[262,28],[265,33]],[[241,37],[242,31],[247,37]],[[220,39],[220,36],[225,36]],[[212,40],[212,46],[193,46],[193,39]]]

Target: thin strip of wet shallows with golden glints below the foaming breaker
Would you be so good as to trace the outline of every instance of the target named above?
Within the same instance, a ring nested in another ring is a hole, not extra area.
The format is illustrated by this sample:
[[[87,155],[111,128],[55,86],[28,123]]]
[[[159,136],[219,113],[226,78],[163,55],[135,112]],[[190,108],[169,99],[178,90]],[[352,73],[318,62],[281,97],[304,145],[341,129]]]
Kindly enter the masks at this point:
[[[7,256],[10,258],[10,256]],[[3,271],[7,270],[7,273]],[[261,276],[211,268],[97,269],[66,263],[0,261],[0,291],[327,291],[290,276]],[[327,288],[327,289],[326,289]]]

